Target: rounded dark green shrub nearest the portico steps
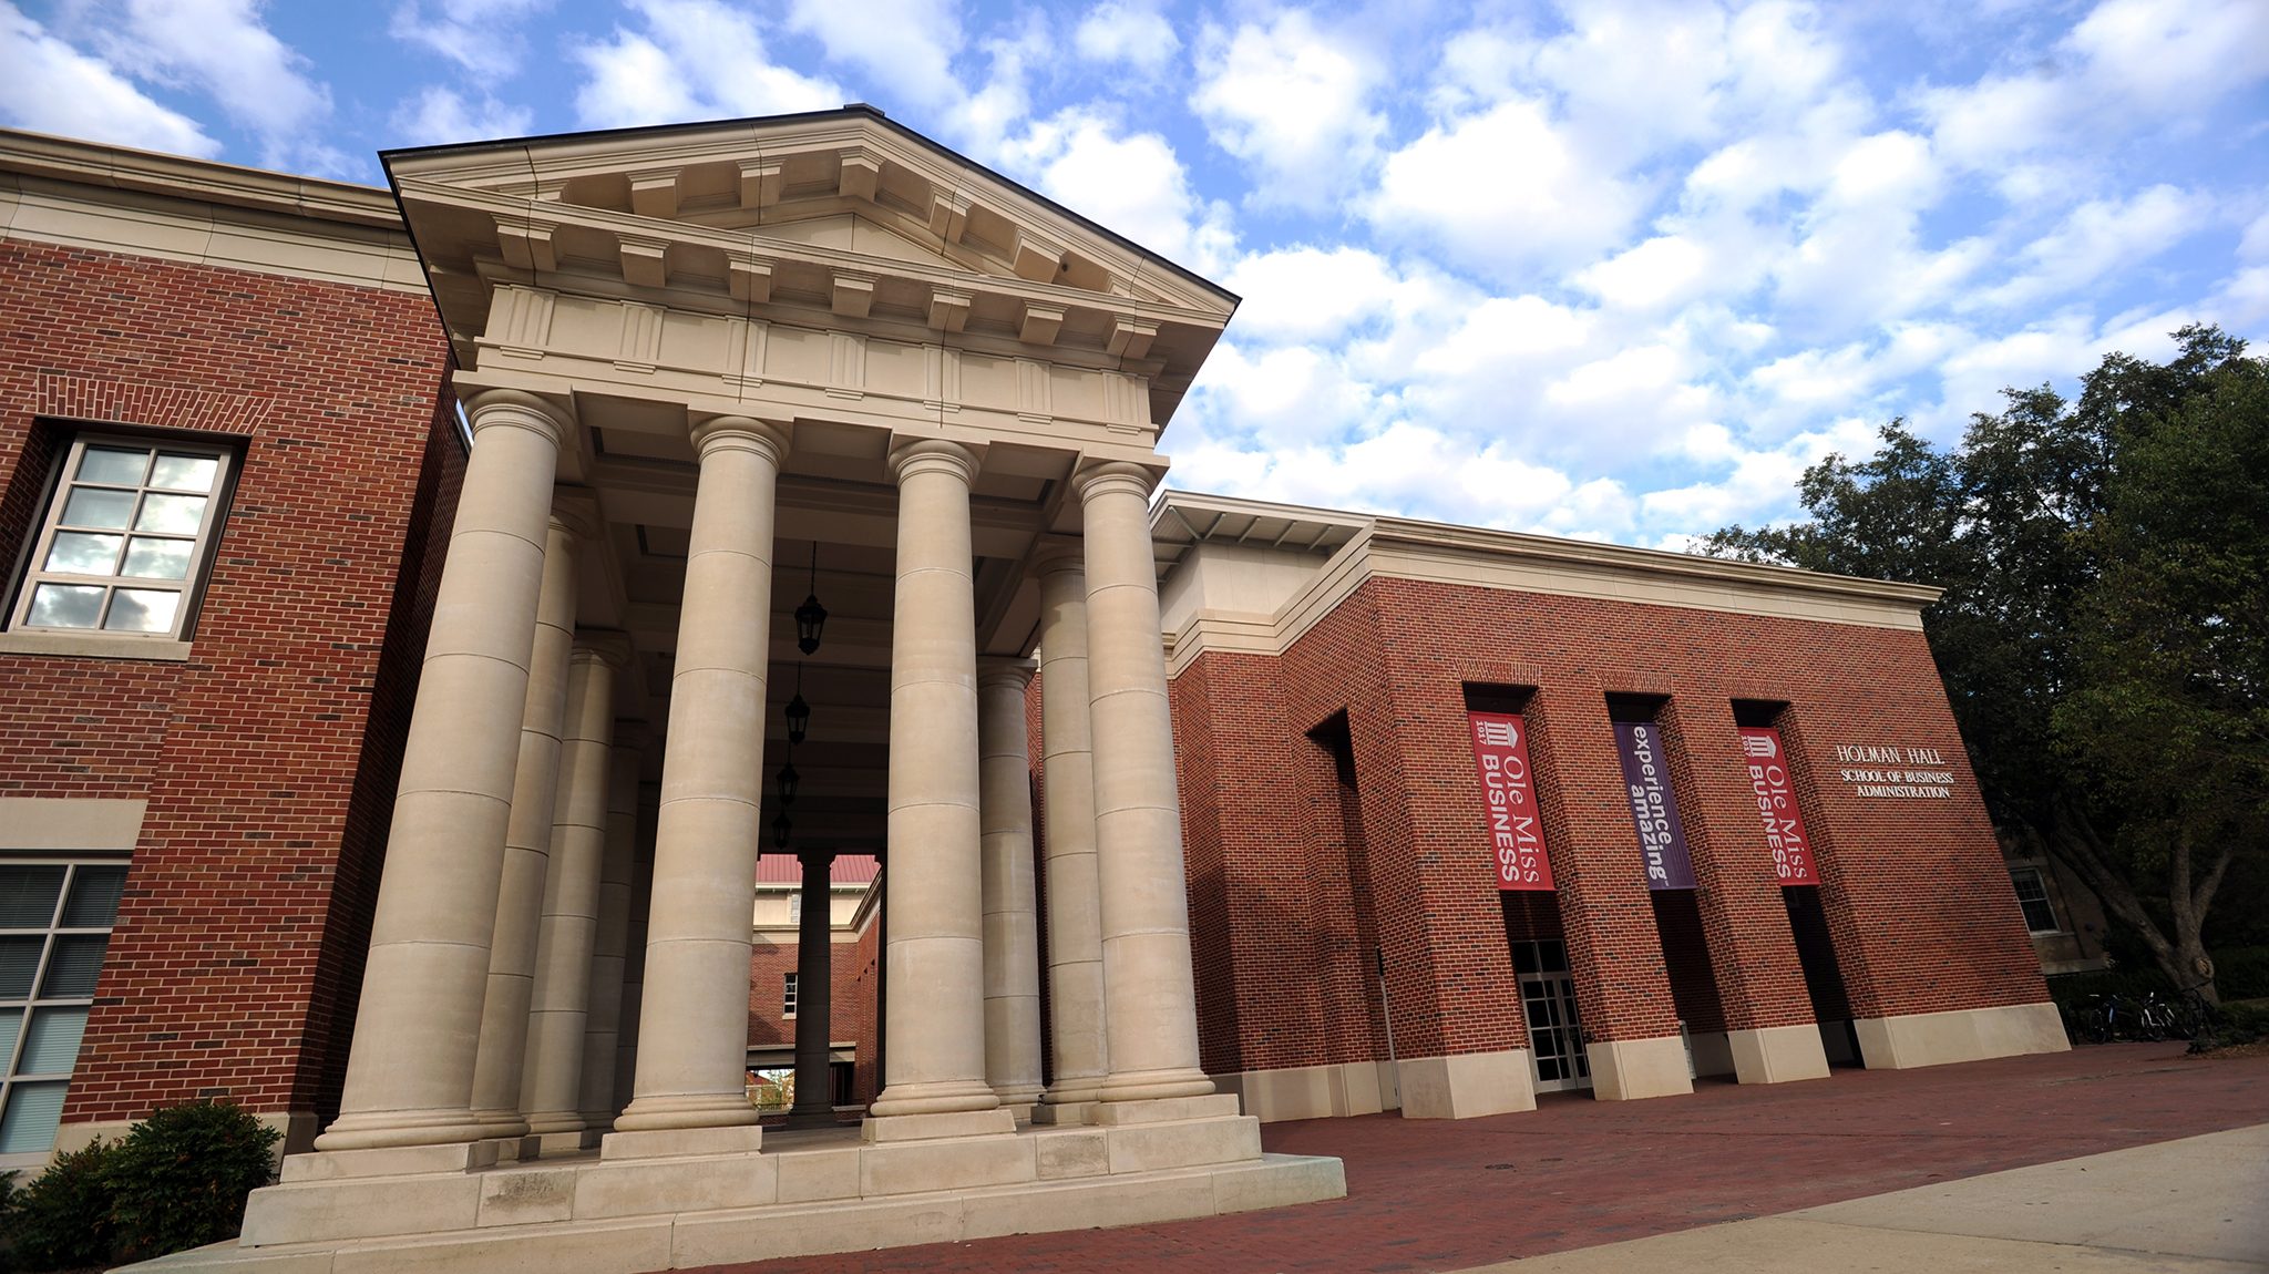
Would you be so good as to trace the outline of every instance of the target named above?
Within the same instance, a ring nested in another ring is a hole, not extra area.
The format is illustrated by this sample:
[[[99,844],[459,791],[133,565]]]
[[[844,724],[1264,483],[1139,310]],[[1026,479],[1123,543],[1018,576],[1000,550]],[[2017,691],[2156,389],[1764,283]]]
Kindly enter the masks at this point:
[[[275,1179],[279,1136],[227,1102],[163,1106],[134,1124],[109,1165],[120,1258],[234,1238],[245,1195]]]

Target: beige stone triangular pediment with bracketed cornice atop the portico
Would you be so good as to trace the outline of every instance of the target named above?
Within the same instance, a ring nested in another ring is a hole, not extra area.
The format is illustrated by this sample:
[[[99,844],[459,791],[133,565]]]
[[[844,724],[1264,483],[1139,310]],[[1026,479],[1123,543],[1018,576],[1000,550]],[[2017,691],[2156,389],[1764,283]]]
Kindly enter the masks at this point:
[[[495,288],[1014,342],[1171,413],[1237,308],[869,107],[383,154],[461,360]]]

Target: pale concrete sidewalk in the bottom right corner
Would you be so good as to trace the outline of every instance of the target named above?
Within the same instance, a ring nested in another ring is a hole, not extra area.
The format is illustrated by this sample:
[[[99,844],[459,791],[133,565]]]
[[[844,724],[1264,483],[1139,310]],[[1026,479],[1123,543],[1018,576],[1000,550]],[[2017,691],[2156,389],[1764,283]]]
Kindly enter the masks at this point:
[[[2269,1269],[2269,1124],[1482,1269]]]

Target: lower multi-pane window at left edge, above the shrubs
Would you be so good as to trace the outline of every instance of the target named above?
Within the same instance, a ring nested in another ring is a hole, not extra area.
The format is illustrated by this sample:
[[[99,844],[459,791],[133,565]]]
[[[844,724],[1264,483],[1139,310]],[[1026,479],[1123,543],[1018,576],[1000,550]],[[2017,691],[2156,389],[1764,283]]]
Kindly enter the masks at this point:
[[[123,861],[0,861],[0,1163],[54,1147],[125,882]]]

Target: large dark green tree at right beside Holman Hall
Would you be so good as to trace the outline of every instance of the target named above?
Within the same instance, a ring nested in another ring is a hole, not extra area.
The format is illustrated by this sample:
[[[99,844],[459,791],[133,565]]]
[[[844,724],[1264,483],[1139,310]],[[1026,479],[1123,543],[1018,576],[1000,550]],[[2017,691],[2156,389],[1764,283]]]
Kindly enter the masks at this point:
[[[1808,521],[1704,553],[1933,583],[1924,612],[2001,834],[2069,864],[2176,986],[2269,839],[2269,365],[2212,326],[2008,390],[1940,451],[1901,422],[1804,472]]]

